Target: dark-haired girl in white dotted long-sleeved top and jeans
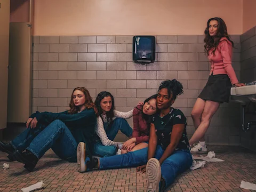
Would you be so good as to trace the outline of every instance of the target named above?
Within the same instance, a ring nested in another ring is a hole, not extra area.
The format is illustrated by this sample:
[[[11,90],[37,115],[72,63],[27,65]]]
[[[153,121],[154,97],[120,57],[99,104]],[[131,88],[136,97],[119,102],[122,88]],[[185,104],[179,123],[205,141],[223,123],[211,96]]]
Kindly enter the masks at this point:
[[[115,110],[115,100],[111,93],[102,91],[94,102],[99,111],[95,132],[94,155],[107,157],[116,155],[118,145],[113,141],[120,130],[126,137],[132,137],[132,128],[125,118],[131,118],[133,109],[128,112]],[[113,118],[116,117],[114,120]]]

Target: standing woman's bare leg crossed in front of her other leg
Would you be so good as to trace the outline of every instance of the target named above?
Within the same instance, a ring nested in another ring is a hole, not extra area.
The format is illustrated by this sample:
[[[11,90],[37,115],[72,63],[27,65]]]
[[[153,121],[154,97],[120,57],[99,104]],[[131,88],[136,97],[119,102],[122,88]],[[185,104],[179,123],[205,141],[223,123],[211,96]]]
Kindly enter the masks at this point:
[[[198,141],[204,136],[205,132],[207,131],[210,125],[211,118],[215,114],[215,112],[218,110],[219,106],[220,106],[219,102],[215,102],[215,101],[205,102],[203,114],[201,116],[201,123],[197,127],[195,133],[190,138],[189,140],[190,145],[193,145],[193,143],[195,143],[196,141]]]

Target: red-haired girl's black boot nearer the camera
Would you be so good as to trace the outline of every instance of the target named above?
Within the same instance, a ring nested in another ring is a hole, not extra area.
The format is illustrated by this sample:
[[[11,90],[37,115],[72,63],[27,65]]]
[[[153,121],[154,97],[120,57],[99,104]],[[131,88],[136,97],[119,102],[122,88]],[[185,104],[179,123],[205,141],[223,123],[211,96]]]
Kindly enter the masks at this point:
[[[18,162],[25,164],[24,168],[27,169],[28,171],[33,171],[35,168],[38,158],[31,153],[31,151],[26,150],[25,152],[20,153],[18,150],[15,151],[13,154],[15,159],[17,159]]]

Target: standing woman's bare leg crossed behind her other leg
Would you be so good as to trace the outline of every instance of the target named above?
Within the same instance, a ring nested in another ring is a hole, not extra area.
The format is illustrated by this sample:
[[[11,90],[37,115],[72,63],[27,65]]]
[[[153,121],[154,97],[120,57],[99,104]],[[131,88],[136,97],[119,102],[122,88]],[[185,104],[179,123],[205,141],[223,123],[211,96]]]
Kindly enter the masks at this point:
[[[203,114],[204,106],[205,106],[205,100],[201,98],[197,98],[195,105],[191,111],[191,117],[193,119],[195,129],[197,129],[197,127],[201,123],[201,116]],[[204,135],[202,138],[199,139],[199,141],[205,141]],[[191,143],[189,144],[191,145]]]

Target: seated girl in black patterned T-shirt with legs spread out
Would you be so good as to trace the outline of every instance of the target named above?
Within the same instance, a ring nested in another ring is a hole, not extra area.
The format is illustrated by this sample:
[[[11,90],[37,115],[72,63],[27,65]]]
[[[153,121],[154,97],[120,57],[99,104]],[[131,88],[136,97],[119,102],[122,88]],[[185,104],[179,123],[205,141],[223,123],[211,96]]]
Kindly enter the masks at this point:
[[[85,148],[78,148],[78,171],[138,166],[137,171],[147,173],[147,191],[163,191],[193,162],[186,133],[186,117],[179,109],[172,107],[182,93],[183,86],[176,79],[166,80],[159,86],[156,98],[159,112],[150,124],[148,148],[99,159],[85,159]]]

